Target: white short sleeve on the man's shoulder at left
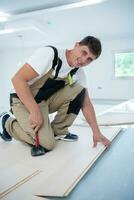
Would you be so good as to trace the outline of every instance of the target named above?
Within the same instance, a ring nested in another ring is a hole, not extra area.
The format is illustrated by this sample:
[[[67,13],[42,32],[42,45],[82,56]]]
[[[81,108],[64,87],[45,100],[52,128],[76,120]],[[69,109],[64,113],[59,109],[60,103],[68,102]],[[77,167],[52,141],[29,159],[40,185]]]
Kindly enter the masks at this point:
[[[26,63],[42,76],[52,67],[53,58],[54,51],[51,47],[40,47],[26,60]]]

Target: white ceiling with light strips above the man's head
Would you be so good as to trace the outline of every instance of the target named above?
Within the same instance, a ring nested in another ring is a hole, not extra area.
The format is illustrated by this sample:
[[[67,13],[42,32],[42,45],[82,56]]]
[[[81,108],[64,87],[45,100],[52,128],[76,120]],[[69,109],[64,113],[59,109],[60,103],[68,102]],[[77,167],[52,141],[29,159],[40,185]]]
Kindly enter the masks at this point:
[[[0,11],[12,15],[0,23],[0,30],[15,32],[0,34],[0,47],[70,44],[86,35],[134,37],[133,9],[133,0],[104,0],[93,5],[82,5],[80,0],[1,0]]]

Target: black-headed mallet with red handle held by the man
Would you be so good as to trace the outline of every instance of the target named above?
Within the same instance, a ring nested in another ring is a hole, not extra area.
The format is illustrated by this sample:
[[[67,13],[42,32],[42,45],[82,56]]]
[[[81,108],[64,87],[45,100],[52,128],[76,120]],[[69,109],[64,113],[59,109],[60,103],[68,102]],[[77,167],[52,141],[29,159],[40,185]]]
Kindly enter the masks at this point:
[[[41,156],[45,154],[45,149],[39,145],[38,131],[35,133],[35,146],[31,149],[32,156]]]

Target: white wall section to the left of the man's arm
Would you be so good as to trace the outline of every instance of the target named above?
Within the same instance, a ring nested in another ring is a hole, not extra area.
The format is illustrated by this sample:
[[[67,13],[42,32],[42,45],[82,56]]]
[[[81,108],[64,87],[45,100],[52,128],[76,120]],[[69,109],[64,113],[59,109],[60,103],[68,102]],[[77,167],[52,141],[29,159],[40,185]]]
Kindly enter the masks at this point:
[[[20,48],[0,50],[0,108],[9,109],[9,94],[13,87],[11,77],[33,50],[34,48],[27,48],[24,52]]]

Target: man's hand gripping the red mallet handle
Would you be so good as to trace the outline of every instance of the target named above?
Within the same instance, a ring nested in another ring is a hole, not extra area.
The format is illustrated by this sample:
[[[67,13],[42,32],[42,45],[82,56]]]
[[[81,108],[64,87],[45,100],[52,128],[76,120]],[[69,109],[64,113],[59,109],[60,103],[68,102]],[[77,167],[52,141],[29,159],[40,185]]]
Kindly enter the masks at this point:
[[[30,113],[29,123],[31,128],[37,132],[44,122],[43,115],[40,110],[36,110]]]

